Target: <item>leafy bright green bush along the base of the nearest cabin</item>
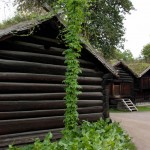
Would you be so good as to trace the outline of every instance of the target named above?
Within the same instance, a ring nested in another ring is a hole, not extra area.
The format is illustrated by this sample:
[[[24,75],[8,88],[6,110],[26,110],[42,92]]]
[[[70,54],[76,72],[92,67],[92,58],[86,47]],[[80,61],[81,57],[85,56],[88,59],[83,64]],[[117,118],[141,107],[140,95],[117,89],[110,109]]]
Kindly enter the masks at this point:
[[[9,150],[133,150],[130,137],[119,124],[102,119],[95,123],[84,121],[80,127],[68,131],[60,141],[50,142],[51,138],[49,133],[43,142],[36,139],[32,146],[26,148],[10,145]]]

